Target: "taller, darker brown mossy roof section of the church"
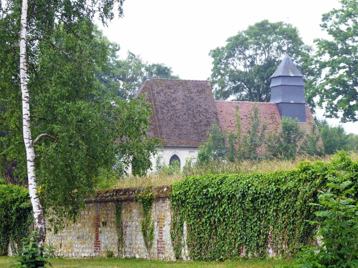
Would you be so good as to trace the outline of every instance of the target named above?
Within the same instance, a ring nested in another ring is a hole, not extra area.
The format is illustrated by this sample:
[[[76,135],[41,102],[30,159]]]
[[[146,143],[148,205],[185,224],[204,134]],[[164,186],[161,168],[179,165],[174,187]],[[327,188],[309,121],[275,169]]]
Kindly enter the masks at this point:
[[[218,119],[209,81],[150,78],[139,95],[153,105],[148,134],[164,146],[200,146]]]

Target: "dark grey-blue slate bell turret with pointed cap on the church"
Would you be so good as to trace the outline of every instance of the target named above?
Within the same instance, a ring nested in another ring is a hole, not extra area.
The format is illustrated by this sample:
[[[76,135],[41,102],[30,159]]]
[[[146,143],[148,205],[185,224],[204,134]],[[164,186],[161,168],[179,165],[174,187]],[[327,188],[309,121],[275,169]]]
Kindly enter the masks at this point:
[[[270,102],[277,103],[281,116],[306,122],[306,99],[303,75],[288,55],[271,78]]]

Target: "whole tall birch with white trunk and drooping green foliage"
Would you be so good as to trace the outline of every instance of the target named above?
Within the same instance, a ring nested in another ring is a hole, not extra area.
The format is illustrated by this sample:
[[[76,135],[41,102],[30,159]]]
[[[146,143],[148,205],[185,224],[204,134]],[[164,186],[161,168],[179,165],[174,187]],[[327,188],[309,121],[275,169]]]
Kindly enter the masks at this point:
[[[109,52],[95,38],[92,21],[96,13],[103,23],[112,19],[115,4],[122,15],[123,0],[10,0],[0,6],[0,154],[16,160],[27,176],[40,244],[44,205],[52,207],[52,219],[76,219],[83,197],[115,155],[127,165],[132,157],[150,165],[155,150],[146,135],[148,104],[98,90],[95,71],[104,71]]]

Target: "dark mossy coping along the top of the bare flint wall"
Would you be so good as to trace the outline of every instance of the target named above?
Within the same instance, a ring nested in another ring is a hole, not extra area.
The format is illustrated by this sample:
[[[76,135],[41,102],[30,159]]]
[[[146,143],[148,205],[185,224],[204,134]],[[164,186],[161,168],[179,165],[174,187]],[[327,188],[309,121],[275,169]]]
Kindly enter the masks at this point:
[[[148,187],[131,187],[120,189],[102,189],[98,190],[94,197],[84,199],[86,203],[111,202],[134,200],[138,195],[147,190]],[[156,198],[167,198],[172,195],[172,185],[156,185],[152,186],[147,193],[153,193]]]

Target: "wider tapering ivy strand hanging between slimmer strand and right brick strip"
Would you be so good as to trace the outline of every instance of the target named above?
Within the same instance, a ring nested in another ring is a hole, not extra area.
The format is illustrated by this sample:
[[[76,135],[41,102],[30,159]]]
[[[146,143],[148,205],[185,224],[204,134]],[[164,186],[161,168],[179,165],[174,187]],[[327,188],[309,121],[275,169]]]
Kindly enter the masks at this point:
[[[155,196],[153,192],[150,192],[151,188],[152,186],[149,186],[144,193],[138,195],[138,201],[142,203],[143,211],[142,234],[148,252],[151,251],[154,240],[154,222],[152,222],[151,216]]]

